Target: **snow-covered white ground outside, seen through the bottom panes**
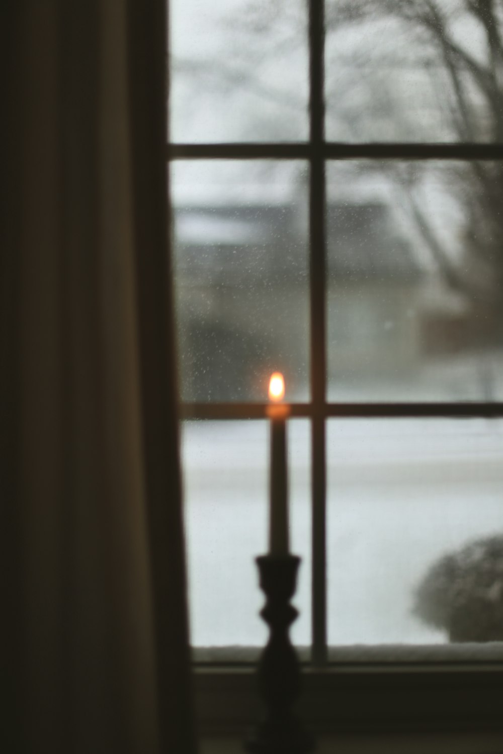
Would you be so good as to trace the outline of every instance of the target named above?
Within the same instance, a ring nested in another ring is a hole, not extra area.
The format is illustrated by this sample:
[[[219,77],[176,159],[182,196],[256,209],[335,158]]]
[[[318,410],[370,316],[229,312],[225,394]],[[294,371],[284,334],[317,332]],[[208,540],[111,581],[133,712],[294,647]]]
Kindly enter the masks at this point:
[[[293,640],[311,641],[309,422],[289,423],[290,523],[302,556]],[[267,549],[266,421],[182,430],[192,644],[262,645],[253,559]],[[443,553],[503,532],[503,421],[333,420],[327,425],[330,645],[446,642],[413,615]]]

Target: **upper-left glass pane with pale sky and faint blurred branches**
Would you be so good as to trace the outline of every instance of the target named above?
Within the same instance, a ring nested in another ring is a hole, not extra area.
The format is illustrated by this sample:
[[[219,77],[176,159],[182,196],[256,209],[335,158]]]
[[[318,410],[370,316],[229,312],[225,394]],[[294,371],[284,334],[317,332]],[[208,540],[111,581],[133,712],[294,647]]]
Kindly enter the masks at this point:
[[[305,139],[306,8],[303,0],[172,0],[171,139]]]

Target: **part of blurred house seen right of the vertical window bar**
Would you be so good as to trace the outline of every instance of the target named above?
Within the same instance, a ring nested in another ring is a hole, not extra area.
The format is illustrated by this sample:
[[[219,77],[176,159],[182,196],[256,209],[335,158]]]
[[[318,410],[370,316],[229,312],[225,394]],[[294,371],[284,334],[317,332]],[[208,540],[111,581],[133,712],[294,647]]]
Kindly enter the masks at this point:
[[[385,204],[327,207],[327,282],[329,385],[345,391],[413,373],[425,273]]]

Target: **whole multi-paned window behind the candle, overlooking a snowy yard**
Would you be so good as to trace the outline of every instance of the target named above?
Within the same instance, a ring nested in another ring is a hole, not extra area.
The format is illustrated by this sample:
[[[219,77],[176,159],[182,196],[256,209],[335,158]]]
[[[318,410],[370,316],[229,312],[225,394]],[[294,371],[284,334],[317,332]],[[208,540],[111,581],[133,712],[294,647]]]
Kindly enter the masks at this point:
[[[304,561],[293,639],[312,667],[494,670],[503,6],[172,0],[170,18],[195,644],[265,638],[252,560],[281,369]]]

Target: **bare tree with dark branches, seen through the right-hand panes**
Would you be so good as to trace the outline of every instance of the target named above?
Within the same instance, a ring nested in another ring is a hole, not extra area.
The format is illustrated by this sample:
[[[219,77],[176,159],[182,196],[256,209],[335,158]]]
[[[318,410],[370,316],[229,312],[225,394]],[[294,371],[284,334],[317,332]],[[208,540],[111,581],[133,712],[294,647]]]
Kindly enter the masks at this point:
[[[357,50],[338,54],[337,40],[363,29]],[[341,0],[328,5],[327,100],[337,103],[339,121],[357,124],[357,137],[379,140],[375,123],[388,112],[397,140],[503,143],[503,2],[501,0]],[[333,43],[330,37],[333,36]],[[369,117],[351,112],[351,76],[341,92],[338,65],[367,76]],[[400,90],[406,72],[419,90]],[[405,73],[404,73],[405,72]],[[382,84],[381,87],[376,83]],[[425,101],[426,100],[426,101]],[[384,105],[383,105],[384,103]],[[431,108],[436,110],[431,117]],[[429,112],[428,112],[429,110]],[[330,115],[330,106],[328,109]],[[411,123],[410,115],[416,118]],[[346,117],[345,117],[346,116]],[[373,130],[374,124],[374,130]],[[329,127],[330,129],[330,127]],[[341,128],[342,130],[342,128]],[[363,133],[361,133],[363,130]],[[406,170],[405,170],[406,173]],[[397,182],[407,188],[404,168]],[[452,164],[449,192],[465,213],[464,238],[457,259],[449,256],[409,182],[409,216],[428,243],[450,287],[472,300],[501,308],[503,249],[501,197],[503,171],[495,162]]]

